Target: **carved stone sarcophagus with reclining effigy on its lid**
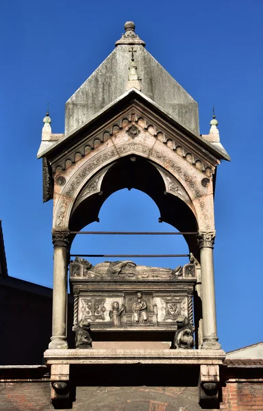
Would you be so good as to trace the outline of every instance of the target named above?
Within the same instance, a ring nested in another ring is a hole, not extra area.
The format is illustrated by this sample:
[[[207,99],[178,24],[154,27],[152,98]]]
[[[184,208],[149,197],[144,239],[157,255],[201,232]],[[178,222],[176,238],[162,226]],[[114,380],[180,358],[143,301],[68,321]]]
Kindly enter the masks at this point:
[[[73,330],[86,323],[93,335],[103,333],[103,339],[106,332],[110,339],[112,332],[122,336],[134,332],[136,338],[138,333],[151,332],[153,336],[156,332],[159,338],[164,338],[160,335],[163,333],[167,339],[179,328],[193,331],[195,264],[176,269],[140,266],[132,261],[92,266],[77,257],[71,261],[70,281],[74,296]],[[129,340],[128,335],[125,340]]]

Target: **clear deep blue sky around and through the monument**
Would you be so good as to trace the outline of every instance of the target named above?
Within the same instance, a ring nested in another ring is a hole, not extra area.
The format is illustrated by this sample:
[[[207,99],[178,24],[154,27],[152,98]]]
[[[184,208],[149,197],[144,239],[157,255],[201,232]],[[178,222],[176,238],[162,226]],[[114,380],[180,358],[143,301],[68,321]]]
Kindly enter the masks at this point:
[[[52,286],[52,202],[42,204],[36,160],[47,101],[53,132],[64,132],[64,103],[133,20],[148,51],[199,103],[202,134],[216,107],[232,158],[218,166],[216,184],[218,335],[226,351],[263,340],[262,1],[10,0],[1,1],[0,14],[0,219],[9,275]],[[147,195],[122,190],[89,229],[172,229],[158,217]],[[170,236],[79,236],[72,252],[185,253],[187,247]]]

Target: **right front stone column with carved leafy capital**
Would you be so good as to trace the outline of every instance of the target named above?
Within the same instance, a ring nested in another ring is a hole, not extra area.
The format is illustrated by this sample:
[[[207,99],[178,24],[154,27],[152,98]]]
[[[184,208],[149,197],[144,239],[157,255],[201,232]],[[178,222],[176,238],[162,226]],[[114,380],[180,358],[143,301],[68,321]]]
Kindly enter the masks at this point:
[[[221,349],[216,332],[216,299],[214,292],[213,246],[215,232],[199,232],[202,311],[203,311],[203,344],[202,349]]]

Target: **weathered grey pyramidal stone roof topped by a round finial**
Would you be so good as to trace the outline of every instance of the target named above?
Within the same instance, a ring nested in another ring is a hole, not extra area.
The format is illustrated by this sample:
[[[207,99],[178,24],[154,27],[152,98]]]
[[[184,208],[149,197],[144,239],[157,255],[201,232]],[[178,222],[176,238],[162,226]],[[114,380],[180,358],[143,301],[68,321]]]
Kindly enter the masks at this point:
[[[125,93],[133,49],[142,94],[188,131],[199,135],[197,102],[145,49],[145,42],[134,28],[134,23],[125,23],[125,34],[116,42],[116,49],[66,102],[65,134],[87,123]]]

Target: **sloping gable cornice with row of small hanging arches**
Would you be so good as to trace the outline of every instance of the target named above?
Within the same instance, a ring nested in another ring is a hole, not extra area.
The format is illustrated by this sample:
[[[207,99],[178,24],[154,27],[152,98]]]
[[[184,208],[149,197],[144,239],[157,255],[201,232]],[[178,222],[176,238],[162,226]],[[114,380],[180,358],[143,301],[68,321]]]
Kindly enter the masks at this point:
[[[192,166],[197,167],[201,173],[211,177],[215,167],[220,163],[214,155],[200,149],[199,145],[187,134],[179,131],[171,125],[167,125],[158,115],[153,113],[138,101],[134,101],[122,114],[108,121],[95,131],[85,134],[76,142],[71,149],[66,149],[66,154],[58,155],[52,161],[53,173],[65,171],[68,167],[76,164],[90,152],[104,145],[109,139],[119,132],[140,127],[140,131],[151,134],[155,140],[162,145],[186,159]],[[134,136],[133,136],[134,138]]]

